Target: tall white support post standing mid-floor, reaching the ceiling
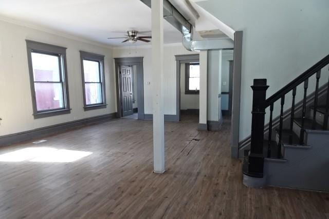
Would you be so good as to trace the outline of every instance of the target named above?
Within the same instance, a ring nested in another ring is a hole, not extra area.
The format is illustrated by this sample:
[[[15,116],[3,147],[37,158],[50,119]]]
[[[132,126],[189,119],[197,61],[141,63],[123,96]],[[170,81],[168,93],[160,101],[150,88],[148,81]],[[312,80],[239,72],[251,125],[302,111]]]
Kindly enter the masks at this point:
[[[165,172],[165,122],[163,114],[163,1],[152,0],[152,97],[154,172]]]

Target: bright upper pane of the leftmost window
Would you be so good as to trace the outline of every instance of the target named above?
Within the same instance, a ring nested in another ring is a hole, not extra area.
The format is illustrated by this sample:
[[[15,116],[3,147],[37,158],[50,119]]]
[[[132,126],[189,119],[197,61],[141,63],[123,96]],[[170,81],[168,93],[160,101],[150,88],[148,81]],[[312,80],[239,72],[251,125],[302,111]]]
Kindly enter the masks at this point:
[[[59,82],[59,56],[31,53],[35,82]]]

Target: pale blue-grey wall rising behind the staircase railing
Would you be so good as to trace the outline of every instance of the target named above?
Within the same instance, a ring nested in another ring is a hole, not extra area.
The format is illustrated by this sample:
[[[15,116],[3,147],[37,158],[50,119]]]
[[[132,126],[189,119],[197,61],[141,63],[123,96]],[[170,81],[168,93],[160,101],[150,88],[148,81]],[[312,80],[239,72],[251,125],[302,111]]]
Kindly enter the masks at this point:
[[[243,140],[251,133],[253,79],[267,78],[269,97],[329,53],[329,1],[209,0],[198,4],[234,30],[243,31]],[[286,100],[289,107],[291,98]]]

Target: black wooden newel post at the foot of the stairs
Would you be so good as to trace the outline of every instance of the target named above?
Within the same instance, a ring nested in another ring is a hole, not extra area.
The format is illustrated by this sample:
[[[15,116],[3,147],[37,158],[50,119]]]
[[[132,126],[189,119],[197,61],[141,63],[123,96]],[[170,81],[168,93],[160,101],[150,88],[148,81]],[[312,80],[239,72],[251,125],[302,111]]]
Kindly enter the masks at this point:
[[[266,79],[254,79],[252,95],[251,148],[247,175],[263,177],[264,122],[266,108]]]

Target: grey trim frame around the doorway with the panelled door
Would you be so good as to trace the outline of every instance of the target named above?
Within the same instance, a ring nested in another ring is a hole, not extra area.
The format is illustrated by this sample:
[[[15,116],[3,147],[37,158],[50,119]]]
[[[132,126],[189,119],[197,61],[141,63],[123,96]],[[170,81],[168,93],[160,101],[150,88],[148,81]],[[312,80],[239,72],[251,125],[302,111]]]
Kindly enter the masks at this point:
[[[122,57],[114,58],[116,91],[117,91],[117,117],[122,117],[122,99],[121,99],[121,77],[119,75],[119,66],[136,66],[137,70],[137,107],[138,120],[144,120],[144,73],[143,57]]]

